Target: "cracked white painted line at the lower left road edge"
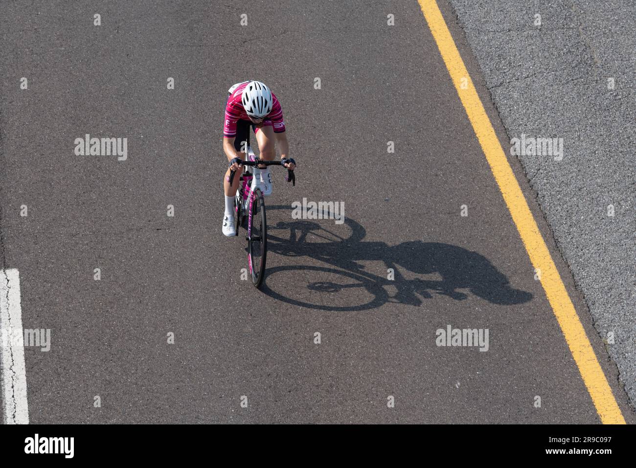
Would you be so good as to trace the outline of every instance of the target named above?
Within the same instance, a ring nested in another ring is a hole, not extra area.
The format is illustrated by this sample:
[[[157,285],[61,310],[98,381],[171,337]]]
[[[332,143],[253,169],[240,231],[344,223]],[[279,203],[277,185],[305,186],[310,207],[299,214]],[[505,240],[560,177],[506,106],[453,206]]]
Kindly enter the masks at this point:
[[[0,270],[0,358],[5,424],[28,424],[27,372],[20,308],[20,274]]]

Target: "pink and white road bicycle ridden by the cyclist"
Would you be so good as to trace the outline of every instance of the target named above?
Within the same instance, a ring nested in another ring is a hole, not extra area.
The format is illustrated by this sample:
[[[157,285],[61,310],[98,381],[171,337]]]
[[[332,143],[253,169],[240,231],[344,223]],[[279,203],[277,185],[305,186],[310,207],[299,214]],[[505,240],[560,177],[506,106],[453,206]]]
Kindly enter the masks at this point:
[[[235,198],[235,229],[236,235],[239,235],[239,227],[245,222],[247,215],[247,263],[249,265],[249,273],[252,277],[252,283],[255,287],[260,288],[265,276],[265,262],[267,259],[267,218],[265,216],[265,201],[263,192],[259,188],[257,176],[254,176],[252,167],[256,166],[283,166],[288,162],[296,164],[293,159],[282,159],[280,161],[264,161],[256,159],[256,155],[249,146],[247,147],[247,160],[234,158],[230,161],[230,167],[234,162],[239,162],[244,166],[244,173],[240,175],[239,189]],[[260,169],[261,167],[258,167]],[[237,171],[230,171],[230,185],[234,180]],[[294,171],[287,169],[287,182],[296,185],[296,176]]]

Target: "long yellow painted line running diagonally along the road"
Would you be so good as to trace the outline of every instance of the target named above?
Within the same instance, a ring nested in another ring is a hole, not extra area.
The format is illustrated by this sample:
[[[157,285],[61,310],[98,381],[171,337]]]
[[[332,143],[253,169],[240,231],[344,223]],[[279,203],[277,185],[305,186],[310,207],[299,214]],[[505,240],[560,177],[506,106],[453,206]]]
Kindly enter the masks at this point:
[[[561,327],[565,341],[570,347],[572,357],[579,367],[581,377],[590,392],[590,397],[604,424],[625,424],[616,399],[607,383],[607,378],[598,364],[590,340],[585,334],[581,320],[576,314],[563,281],[548,251],[548,246],[539,232],[539,227],[530,212],[519,183],[515,178],[506,154],[497,139],[497,135],[483,108],[483,104],[474,88],[473,81],[459,55],[455,41],[448,31],[446,22],[435,0],[418,0],[426,18],[448,73],[453,80],[459,99],[461,99],[474,132],[479,139],[481,149],[486,155],[490,169],[495,176],[499,190],[508,205],[519,235],[530,257],[530,262],[541,271],[541,285]],[[462,86],[463,85],[463,86]]]

